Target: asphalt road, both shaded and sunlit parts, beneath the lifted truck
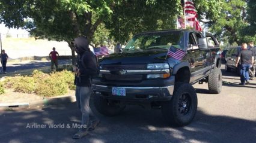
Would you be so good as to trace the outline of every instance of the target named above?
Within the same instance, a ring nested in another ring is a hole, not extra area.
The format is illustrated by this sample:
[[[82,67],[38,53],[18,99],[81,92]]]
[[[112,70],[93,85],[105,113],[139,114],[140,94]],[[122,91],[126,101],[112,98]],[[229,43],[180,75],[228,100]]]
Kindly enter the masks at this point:
[[[96,112],[102,123],[82,139],[72,139],[81,114],[76,104],[43,109],[0,112],[0,143],[71,142],[255,142],[256,81],[239,86],[239,77],[222,72],[225,83],[219,95],[209,94],[207,84],[195,84],[198,111],[186,127],[171,127],[156,109],[127,107],[117,117]],[[51,128],[48,124],[61,124]],[[31,124],[45,128],[31,127]],[[67,125],[70,127],[67,127]],[[30,128],[29,128],[30,126]]]

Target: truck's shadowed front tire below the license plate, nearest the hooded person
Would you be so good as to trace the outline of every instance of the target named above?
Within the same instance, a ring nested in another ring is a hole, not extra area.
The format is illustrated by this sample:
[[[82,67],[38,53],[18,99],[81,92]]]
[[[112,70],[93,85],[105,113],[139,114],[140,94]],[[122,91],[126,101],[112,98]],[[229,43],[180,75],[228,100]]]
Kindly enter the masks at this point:
[[[118,115],[125,108],[125,105],[117,104],[116,101],[109,101],[100,95],[95,95],[93,100],[97,111],[106,116]]]

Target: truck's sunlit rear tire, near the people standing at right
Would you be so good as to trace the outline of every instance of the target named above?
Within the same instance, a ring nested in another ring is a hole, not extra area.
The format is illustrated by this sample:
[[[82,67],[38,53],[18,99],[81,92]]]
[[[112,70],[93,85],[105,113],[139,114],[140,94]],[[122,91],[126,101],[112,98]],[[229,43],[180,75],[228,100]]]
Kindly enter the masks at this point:
[[[215,68],[208,77],[208,89],[210,93],[219,94],[221,93],[222,87],[222,73],[221,69]]]

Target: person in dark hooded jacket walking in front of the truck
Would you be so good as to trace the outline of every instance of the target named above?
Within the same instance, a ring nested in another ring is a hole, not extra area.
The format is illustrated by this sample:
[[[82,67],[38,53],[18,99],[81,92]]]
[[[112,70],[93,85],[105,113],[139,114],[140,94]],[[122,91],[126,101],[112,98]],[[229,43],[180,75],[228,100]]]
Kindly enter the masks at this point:
[[[87,38],[78,37],[73,41],[75,51],[78,54],[73,71],[76,73],[76,102],[78,108],[82,112],[81,126],[82,128],[73,135],[74,139],[82,138],[87,135],[88,130],[94,130],[100,123],[100,120],[93,114],[89,106],[91,89],[91,75],[97,72],[96,56],[89,48]]]

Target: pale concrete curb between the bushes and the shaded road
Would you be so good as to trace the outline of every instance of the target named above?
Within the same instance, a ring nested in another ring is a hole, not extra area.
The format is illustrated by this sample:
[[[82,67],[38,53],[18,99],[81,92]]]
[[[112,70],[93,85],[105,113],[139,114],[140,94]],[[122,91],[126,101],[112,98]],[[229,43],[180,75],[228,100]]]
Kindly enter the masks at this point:
[[[0,104],[0,110],[6,109],[24,109],[24,108],[35,108],[35,107],[46,107],[49,105],[62,105],[62,104],[70,104],[76,102],[76,96],[62,96],[56,98],[46,98],[40,101],[32,101],[32,102],[20,102],[20,103],[6,103]]]

